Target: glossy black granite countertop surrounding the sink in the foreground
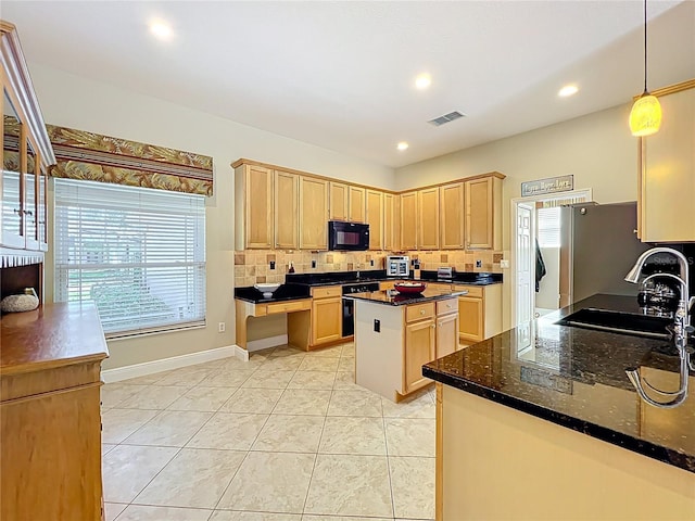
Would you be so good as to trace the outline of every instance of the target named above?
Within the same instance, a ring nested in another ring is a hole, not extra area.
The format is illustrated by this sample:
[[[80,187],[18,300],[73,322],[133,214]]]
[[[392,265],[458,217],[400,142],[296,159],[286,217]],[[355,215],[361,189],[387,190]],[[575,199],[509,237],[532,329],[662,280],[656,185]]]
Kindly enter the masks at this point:
[[[422,373],[517,410],[695,472],[695,373],[679,407],[644,403],[624,372],[642,367],[657,386],[678,386],[667,340],[556,325],[579,309],[639,313],[636,298],[594,295],[422,366]],[[665,380],[668,383],[664,383]]]

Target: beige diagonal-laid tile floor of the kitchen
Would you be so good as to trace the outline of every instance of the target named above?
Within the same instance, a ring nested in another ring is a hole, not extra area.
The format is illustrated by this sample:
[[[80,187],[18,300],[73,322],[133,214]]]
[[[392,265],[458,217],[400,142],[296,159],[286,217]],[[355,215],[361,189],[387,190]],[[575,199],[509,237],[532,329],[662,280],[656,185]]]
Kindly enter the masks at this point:
[[[434,518],[434,394],[354,383],[352,343],[102,387],[106,520]]]

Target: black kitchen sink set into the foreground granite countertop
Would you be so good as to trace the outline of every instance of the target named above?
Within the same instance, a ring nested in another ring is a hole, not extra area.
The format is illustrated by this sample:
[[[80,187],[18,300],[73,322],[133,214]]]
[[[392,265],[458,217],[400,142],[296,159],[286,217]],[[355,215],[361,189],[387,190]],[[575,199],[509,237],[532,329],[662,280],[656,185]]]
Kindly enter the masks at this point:
[[[668,339],[670,332],[666,328],[673,323],[673,319],[587,307],[572,313],[555,323],[653,339]]]

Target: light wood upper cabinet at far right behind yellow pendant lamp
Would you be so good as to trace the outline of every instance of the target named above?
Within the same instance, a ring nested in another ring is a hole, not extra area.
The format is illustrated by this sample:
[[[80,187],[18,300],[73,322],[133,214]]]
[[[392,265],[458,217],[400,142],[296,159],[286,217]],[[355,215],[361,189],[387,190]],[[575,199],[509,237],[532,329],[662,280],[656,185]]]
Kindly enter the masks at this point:
[[[695,79],[653,92],[664,122],[639,139],[637,237],[643,242],[695,241]]]

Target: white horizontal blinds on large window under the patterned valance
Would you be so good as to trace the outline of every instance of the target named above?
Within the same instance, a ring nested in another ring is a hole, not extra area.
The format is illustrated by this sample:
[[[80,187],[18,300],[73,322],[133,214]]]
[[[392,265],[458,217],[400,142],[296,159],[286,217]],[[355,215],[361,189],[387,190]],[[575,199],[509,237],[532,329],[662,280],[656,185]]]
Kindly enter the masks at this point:
[[[55,301],[97,304],[108,338],[205,323],[204,196],[55,179]]]

